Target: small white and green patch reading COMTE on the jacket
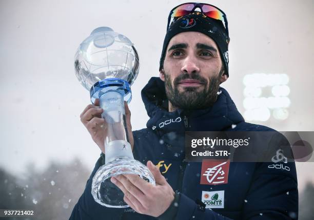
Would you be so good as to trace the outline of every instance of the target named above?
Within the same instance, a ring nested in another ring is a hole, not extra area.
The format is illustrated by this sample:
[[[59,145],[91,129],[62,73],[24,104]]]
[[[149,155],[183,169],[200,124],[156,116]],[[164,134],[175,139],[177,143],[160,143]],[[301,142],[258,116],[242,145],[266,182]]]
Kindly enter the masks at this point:
[[[225,191],[202,191],[202,202],[206,209],[223,209],[225,205]]]

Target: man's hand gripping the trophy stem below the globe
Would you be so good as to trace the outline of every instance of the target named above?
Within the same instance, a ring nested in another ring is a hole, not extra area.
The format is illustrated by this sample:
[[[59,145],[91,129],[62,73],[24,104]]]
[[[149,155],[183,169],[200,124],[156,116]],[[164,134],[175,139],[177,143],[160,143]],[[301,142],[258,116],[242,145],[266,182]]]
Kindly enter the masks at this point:
[[[126,124],[128,130],[128,137],[131,148],[133,150],[134,139],[132,134],[131,126],[131,112],[129,110],[128,104],[124,102]],[[103,153],[105,153],[105,138],[107,137],[107,122],[102,118],[103,109],[99,107],[99,99],[97,98],[94,105],[88,105],[82,114],[81,122],[87,128],[88,132],[92,136],[93,141],[98,145]]]

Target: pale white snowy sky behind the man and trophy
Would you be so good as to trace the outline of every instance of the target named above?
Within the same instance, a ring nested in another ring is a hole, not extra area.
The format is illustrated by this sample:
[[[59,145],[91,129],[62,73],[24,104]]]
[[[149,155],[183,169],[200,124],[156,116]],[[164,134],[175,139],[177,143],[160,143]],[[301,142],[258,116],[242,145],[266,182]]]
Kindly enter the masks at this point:
[[[158,76],[168,12],[184,1],[0,0],[0,166],[23,175],[33,163],[82,159],[91,170],[100,150],[80,122],[89,92],[78,83],[73,57],[99,26],[128,36],[140,54],[132,86],[133,130],[148,116],[141,89]],[[263,123],[281,131],[313,131],[314,4],[304,1],[202,1],[223,9],[229,21],[230,77],[226,88],[240,112],[243,76],[253,72],[290,77],[289,118]],[[299,187],[314,163],[299,163]]]

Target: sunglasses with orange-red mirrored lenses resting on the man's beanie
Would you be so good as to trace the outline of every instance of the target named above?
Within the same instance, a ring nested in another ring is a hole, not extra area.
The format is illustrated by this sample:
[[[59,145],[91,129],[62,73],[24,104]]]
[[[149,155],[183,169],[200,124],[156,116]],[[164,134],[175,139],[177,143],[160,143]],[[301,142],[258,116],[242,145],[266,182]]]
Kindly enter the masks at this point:
[[[204,15],[211,17],[213,19],[217,19],[222,21],[224,28],[226,29],[227,34],[228,33],[228,22],[227,22],[227,16],[225,12],[220,10],[219,8],[205,4],[205,3],[184,3],[182,5],[174,7],[168,16],[168,24],[167,24],[167,31],[169,29],[169,26],[176,21],[179,17],[182,17],[184,15],[191,14],[195,11],[195,9],[200,9],[200,12]]]

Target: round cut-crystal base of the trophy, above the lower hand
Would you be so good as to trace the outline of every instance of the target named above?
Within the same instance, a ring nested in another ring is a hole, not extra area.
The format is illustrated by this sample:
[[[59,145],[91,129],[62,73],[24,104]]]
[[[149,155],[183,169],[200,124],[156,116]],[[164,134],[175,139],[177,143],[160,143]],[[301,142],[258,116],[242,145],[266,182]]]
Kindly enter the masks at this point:
[[[139,161],[130,158],[117,158],[101,166],[93,177],[92,195],[95,202],[109,208],[127,208],[124,193],[113,183],[110,178],[121,174],[139,175],[145,181],[155,185],[155,180],[148,168]]]

